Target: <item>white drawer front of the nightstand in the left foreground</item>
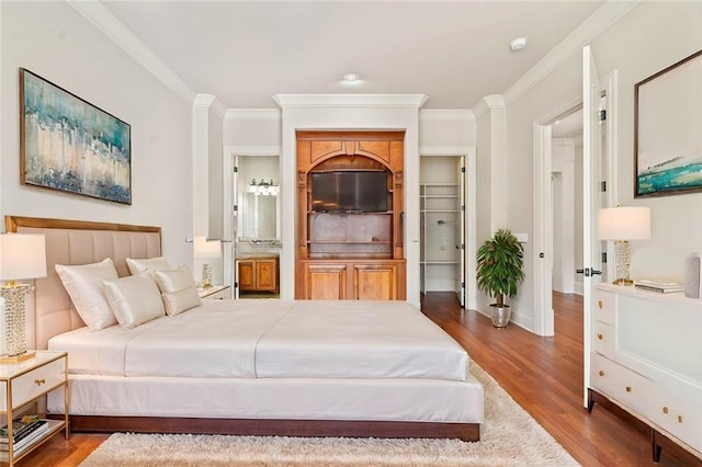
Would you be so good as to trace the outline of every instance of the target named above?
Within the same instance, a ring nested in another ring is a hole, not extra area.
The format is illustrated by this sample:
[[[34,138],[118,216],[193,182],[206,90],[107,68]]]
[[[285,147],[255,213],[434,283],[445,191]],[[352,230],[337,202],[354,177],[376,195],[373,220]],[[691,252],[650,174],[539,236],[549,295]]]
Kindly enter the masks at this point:
[[[66,381],[66,357],[60,357],[54,362],[42,365],[23,375],[13,378],[10,383],[12,388],[12,408],[15,409],[24,403],[42,396],[43,394],[63,385]],[[7,410],[5,386],[0,387],[0,411]]]

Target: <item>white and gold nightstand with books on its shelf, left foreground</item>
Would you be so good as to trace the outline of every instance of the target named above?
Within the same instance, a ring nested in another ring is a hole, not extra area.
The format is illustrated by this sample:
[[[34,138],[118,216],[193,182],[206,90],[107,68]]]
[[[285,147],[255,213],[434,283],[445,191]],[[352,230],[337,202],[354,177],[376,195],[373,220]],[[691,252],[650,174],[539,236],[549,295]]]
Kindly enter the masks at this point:
[[[0,451],[1,463],[14,465],[61,430],[65,430],[66,440],[68,440],[70,429],[68,425],[68,354],[66,352],[36,351],[33,358],[19,363],[0,363],[0,415],[4,419],[2,425],[8,420],[14,419],[14,411],[60,388],[64,389],[63,419],[47,420],[48,430],[42,430],[42,434],[35,435],[30,442],[18,442],[21,444],[18,448],[13,446],[12,436],[8,436],[8,444],[4,445],[7,451]],[[44,414],[41,417],[44,419]]]

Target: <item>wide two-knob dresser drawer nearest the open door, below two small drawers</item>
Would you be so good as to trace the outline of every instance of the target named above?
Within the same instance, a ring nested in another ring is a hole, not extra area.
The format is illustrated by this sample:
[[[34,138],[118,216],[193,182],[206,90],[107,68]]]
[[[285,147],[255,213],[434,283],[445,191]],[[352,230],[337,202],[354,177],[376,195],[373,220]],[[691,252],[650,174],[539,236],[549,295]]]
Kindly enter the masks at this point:
[[[604,356],[592,353],[590,381],[599,392],[620,402],[630,411],[643,414],[647,408],[649,380]]]

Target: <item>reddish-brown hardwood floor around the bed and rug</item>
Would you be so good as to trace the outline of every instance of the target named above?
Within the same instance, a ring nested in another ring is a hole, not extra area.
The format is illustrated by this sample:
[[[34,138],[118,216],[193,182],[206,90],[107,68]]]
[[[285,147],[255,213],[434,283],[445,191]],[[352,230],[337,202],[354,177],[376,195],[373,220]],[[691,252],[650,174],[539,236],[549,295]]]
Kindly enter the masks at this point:
[[[582,301],[554,293],[556,335],[540,338],[518,326],[496,329],[477,311],[462,310],[451,293],[428,294],[424,314],[460,342],[534,419],[585,466],[646,466],[648,436],[596,405],[582,407]],[[20,466],[76,466],[107,435],[54,437]],[[683,465],[666,458],[661,465]]]

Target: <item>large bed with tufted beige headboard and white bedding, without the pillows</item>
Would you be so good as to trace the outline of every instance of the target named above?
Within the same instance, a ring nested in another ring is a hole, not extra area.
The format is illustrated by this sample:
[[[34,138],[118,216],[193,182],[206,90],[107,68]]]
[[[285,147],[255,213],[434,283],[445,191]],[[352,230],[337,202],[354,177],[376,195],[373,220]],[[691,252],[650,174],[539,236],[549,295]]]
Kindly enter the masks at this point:
[[[161,254],[160,229],[19,216],[5,228],[46,236],[27,346],[68,352],[72,431],[479,440],[468,355],[408,303],[203,300],[93,331],[55,264],[111,258],[127,276],[127,258]]]

